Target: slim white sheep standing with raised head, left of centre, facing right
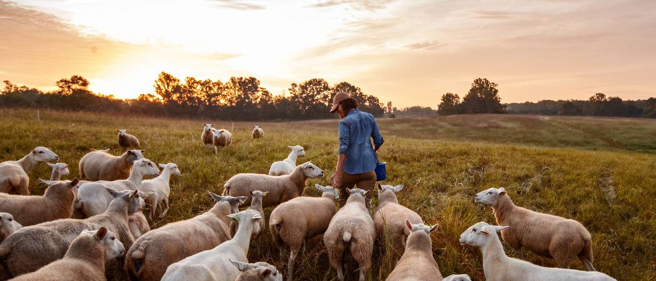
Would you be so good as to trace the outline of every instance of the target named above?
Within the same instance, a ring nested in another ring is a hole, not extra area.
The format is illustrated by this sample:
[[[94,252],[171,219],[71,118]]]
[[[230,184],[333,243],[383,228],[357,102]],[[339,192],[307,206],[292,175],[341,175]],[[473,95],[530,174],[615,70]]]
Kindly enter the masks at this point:
[[[155,212],[159,213],[159,219],[163,219],[164,215],[169,212],[169,194],[171,194],[169,181],[171,180],[171,175],[180,176],[180,170],[178,170],[178,165],[175,163],[159,164],[159,168],[162,168],[162,172],[157,178],[141,181],[141,185],[138,187],[144,193],[152,193],[152,197],[148,198],[151,202],[148,218],[153,222]],[[164,202],[163,210],[161,206],[162,202]]]

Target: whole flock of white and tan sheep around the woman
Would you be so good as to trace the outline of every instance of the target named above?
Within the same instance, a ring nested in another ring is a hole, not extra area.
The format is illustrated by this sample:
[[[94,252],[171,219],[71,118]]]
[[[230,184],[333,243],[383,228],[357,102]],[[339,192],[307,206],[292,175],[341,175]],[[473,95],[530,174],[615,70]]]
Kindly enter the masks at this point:
[[[140,147],[136,137],[118,131],[121,147]],[[254,126],[253,138],[262,138]],[[207,149],[224,149],[232,134],[205,124],[201,140]],[[387,280],[470,280],[466,274],[442,278],[432,252],[430,233],[413,210],[399,204],[403,185],[378,185],[379,205],[371,215],[369,192],[347,189],[350,197],[337,210],[338,190],[316,185],[321,197],[302,197],[306,179],[323,171],[304,162],[305,151],[289,146],[287,159],[274,162],[268,175],[237,174],[204,214],[150,230],[149,221],[169,210],[169,179],[180,175],[174,163],[156,165],[144,150],[120,156],[94,150],[79,162],[79,180],[68,176],[50,149],[37,147],[17,161],[0,163],[0,280],[106,280],[106,263],[116,259],[133,280],[282,280],[276,267],[249,263],[251,240],[269,229],[281,259],[287,257],[287,279],[293,280],[298,253],[310,238],[323,234],[330,265],[344,280],[350,263],[358,264],[359,280],[371,267],[376,241],[388,243],[394,270]],[[39,163],[52,168],[43,196],[30,195],[28,173]],[[155,177],[144,179],[146,177]],[[497,225],[472,225],[460,243],[483,254],[487,280],[614,280],[592,265],[590,233],[581,223],[515,206],[506,191],[491,188],[474,197],[491,206]],[[144,208],[150,206],[147,216]],[[239,210],[239,205],[248,206]],[[275,206],[268,227],[264,208]],[[310,207],[310,208],[308,208]],[[502,240],[520,259],[508,257]],[[259,244],[259,243],[258,243]],[[522,249],[555,259],[560,268],[522,261]],[[259,249],[258,249],[259,251]],[[587,271],[566,269],[578,257]],[[346,272],[344,272],[346,270]]]

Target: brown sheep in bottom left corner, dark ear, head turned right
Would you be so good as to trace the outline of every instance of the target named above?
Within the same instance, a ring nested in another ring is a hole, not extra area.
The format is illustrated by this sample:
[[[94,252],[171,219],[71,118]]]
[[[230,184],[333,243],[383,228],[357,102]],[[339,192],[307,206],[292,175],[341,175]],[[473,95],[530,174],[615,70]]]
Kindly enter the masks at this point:
[[[116,239],[116,234],[112,231],[105,227],[100,227],[97,231],[85,229],[71,242],[62,259],[12,280],[107,280],[105,263],[120,257],[123,251],[123,243]]]

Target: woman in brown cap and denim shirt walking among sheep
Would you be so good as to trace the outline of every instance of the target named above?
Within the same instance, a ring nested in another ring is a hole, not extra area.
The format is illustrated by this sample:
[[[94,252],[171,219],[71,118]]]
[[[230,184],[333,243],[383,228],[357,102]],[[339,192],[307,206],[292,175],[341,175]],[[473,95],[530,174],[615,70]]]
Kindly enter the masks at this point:
[[[348,199],[346,189],[358,185],[359,189],[368,190],[367,208],[371,209],[371,195],[376,186],[378,164],[376,151],[384,142],[373,115],[359,111],[358,102],[346,92],[338,92],[333,98],[331,113],[337,112],[339,122],[339,159],[331,183],[339,189],[339,207]],[[371,146],[373,138],[373,147]]]

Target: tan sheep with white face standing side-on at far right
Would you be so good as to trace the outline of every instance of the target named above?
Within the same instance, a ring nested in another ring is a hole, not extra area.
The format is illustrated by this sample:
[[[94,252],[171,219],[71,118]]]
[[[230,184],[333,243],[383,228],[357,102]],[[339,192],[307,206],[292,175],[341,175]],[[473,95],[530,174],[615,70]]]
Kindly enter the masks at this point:
[[[592,266],[592,236],[573,219],[541,214],[515,206],[506,189],[487,189],[474,196],[477,203],[492,206],[498,225],[510,225],[501,232],[508,246],[524,258],[522,248],[543,257],[556,259],[559,267],[569,268],[574,257],[579,257],[587,271]]]

